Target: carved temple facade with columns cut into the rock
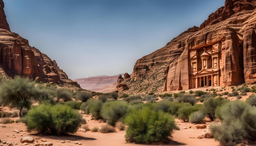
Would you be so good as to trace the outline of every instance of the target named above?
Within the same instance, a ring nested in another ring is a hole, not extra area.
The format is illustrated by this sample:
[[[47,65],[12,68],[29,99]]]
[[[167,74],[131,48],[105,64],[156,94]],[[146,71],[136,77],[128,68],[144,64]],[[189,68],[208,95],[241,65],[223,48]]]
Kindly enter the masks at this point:
[[[190,49],[189,88],[221,86],[221,48],[205,46]]]

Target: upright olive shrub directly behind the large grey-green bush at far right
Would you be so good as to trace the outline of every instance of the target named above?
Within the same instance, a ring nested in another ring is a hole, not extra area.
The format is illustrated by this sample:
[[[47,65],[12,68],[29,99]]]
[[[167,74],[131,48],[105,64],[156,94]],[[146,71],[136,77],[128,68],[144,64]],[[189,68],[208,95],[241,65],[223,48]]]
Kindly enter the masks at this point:
[[[213,121],[215,119],[215,110],[218,106],[221,106],[226,101],[222,97],[214,98],[210,97],[203,102],[203,111]]]

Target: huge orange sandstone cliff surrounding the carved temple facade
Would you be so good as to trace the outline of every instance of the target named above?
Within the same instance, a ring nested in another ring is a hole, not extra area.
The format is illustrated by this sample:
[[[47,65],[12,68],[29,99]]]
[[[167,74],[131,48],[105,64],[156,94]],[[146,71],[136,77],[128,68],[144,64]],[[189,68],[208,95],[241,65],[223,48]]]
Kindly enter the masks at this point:
[[[191,59],[198,56],[193,54],[195,50],[203,48],[211,50],[209,54],[217,51],[219,56],[218,78],[213,75],[210,84],[255,83],[255,8],[256,0],[226,0],[225,6],[212,13],[200,28],[185,31],[162,49],[137,60],[131,79],[124,83],[130,92],[187,90],[199,86],[192,78],[195,74]]]

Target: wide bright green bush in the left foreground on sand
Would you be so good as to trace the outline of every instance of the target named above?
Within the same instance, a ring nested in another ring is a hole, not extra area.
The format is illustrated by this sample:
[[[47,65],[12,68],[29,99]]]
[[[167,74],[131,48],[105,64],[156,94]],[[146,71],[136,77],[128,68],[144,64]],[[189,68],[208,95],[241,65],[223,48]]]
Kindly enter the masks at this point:
[[[83,122],[79,111],[61,104],[40,104],[33,107],[25,118],[28,131],[53,135],[75,133]]]

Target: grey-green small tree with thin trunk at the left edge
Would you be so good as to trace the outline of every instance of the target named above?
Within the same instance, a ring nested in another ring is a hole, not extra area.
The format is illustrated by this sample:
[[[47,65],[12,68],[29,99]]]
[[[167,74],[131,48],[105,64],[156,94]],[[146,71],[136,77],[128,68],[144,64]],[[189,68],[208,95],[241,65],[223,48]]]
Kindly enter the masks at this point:
[[[40,99],[40,91],[36,82],[29,78],[15,76],[14,79],[6,78],[0,85],[0,103],[11,108],[18,108],[21,115],[22,109],[29,109],[32,101]]]

